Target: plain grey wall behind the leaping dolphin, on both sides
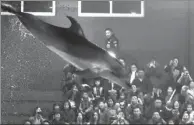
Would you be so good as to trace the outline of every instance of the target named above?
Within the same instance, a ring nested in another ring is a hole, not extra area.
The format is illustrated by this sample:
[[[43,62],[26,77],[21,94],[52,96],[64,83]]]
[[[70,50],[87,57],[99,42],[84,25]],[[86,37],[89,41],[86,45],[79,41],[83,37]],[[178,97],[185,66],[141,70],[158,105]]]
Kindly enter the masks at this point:
[[[193,10],[188,18],[186,1],[149,0],[145,3],[144,18],[80,18],[76,1],[60,1],[56,17],[41,18],[69,27],[65,15],[71,15],[80,22],[86,37],[101,47],[105,44],[104,29],[112,28],[120,41],[121,53],[129,63],[136,60],[143,66],[155,56],[162,65],[173,57],[179,57],[181,63],[187,65],[189,39],[191,53],[194,52]],[[14,18],[2,16],[1,22],[2,121],[19,123],[35,106],[46,107],[48,111],[55,101],[63,100],[60,87],[65,62],[35,39],[28,37],[21,41],[20,32],[10,27],[9,20]],[[192,25],[190,32],[188,22]],[[191,53],[190,63],[194,69]]]

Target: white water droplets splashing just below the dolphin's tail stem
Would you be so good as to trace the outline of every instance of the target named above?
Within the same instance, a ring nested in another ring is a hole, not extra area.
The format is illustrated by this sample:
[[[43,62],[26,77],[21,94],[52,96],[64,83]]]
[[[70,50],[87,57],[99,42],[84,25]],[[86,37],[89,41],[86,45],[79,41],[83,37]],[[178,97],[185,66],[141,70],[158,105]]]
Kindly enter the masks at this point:
[[[9,20],[11,23],[11,30],[12,31],[19,31],[20,33],[20,40],[23,41],[27,37],[35,38],[31,32],[29,32],[25,26],[20,22],[18,18],[12,18]]]

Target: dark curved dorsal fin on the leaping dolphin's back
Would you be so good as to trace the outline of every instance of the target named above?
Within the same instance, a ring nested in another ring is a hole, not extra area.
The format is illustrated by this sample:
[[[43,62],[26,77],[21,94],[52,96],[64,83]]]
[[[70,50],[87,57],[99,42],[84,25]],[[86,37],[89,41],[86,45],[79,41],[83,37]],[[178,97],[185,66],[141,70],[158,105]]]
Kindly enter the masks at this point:
[[[85,37],[84,31],[80,24],[71,16],[67,16],[67,18],[71,21],[71,26],[69,27],[69,30],[82,37]]]

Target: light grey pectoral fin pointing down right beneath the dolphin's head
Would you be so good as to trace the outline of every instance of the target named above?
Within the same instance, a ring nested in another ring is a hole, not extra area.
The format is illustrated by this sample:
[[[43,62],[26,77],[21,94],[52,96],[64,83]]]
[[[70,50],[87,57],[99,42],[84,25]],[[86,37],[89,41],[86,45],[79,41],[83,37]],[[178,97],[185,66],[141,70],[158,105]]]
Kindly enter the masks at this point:
[[[124,80],[119,79],[115,75],[113,75],[110,71],[102,71],[99,73],[99,76],[101,76],[104,79],[107,79],[125,89],[129,89],[129,86],[124,82]]]

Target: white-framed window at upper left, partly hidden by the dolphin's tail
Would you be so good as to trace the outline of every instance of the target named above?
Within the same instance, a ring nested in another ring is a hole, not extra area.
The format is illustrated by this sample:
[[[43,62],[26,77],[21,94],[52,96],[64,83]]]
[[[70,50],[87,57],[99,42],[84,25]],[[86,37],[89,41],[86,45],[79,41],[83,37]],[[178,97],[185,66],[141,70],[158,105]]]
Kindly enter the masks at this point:
[[[35,16],[55,16],[56,13],[55,1],[12,1],[12,2],[18,3],[19,10],[21,10],[21,12],[30,13]],[[4,3],[8,2],[4,1]],[[11,5],[15,7],[15,5],[13,4]],[[1,13],[1,15],[13,15],[13,14],[3,12]]]

